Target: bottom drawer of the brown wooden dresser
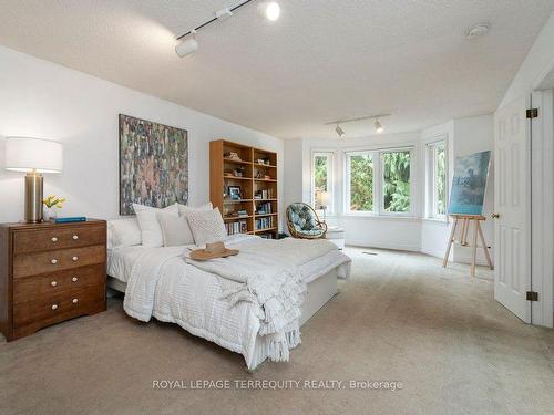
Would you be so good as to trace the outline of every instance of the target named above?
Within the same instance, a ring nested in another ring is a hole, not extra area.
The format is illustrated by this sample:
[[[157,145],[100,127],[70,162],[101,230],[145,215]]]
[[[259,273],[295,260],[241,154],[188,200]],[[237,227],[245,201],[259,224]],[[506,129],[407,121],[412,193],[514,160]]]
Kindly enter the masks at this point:
[[[57,317],[64,319],[83,314],[91,304],[105,300],[103,286],[83,288],[53,294],[48,299],[25,302],[13,305],[13,325],[21,328],[28,324],[40,324],[42,321],[52,321]]]

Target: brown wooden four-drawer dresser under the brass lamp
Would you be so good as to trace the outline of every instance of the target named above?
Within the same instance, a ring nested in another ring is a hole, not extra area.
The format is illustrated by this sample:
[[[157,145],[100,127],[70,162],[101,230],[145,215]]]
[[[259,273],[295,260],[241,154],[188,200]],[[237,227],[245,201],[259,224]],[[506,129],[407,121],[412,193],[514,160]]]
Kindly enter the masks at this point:
[[[8,341],[105,311],[106,222],[0,225],[0,331]]]

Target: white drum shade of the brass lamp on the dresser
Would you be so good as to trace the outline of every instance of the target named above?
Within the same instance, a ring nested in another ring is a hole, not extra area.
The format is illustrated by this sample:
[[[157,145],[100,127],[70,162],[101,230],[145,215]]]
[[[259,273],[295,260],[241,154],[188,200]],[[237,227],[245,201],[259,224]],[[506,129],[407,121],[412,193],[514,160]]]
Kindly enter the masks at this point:
[[[13,172],[61,173],[62,145],[40,138],[8,137],[6,169]]]

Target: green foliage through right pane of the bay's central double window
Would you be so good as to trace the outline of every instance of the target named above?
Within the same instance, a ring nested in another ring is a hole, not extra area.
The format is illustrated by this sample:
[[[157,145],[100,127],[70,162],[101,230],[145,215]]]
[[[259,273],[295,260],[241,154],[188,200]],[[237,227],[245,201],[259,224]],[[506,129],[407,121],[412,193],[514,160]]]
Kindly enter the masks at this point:
[[[410,152],[383,153],[384,210],[410,210]]]

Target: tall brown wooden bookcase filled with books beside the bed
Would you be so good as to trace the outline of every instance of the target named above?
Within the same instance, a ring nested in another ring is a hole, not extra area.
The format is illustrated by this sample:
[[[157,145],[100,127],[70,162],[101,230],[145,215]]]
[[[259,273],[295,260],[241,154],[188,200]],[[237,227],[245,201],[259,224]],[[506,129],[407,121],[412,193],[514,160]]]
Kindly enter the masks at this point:
[[[229,235],[277,238],[277,153],[226,139],[211,142],[209,198]]]

